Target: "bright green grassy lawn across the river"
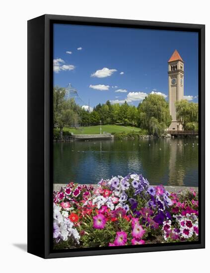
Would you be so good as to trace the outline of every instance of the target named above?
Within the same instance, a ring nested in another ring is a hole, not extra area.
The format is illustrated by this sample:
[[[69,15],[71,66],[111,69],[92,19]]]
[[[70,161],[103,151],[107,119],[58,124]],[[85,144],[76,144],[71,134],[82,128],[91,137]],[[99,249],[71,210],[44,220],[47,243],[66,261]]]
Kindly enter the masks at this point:
[[[59,129],[54,129],[59,132]],[[64,131],[69,131],[75,135],[90,135],[90,134],[100,134],[100,125],[90,126],[90,127],[79,127],[79,129],[75,128],[64,128]],[[121,126],[121,125],[102,125],[101,133],[130,133],[130,132],[139,132],[140,128],[131,127],[131,126]]]

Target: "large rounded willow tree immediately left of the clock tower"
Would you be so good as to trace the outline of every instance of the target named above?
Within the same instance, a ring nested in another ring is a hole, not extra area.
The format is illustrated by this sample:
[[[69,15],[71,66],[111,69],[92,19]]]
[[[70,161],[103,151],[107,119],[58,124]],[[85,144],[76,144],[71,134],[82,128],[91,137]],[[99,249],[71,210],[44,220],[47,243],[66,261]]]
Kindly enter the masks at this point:
[[[163,96],[149,94],[139,105],[138,111],[139,126],[149,134],[160,136],[171,124],[168,103]]]

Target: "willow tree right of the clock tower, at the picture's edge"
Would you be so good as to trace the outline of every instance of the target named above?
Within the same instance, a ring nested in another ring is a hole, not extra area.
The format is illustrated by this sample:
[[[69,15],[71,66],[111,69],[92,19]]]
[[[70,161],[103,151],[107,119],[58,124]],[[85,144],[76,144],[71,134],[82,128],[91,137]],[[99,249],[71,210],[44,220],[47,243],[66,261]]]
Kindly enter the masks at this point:
[[[198,103],[181,100],[176,102],[177,119],[181,121],[184,130],[198,130]]]

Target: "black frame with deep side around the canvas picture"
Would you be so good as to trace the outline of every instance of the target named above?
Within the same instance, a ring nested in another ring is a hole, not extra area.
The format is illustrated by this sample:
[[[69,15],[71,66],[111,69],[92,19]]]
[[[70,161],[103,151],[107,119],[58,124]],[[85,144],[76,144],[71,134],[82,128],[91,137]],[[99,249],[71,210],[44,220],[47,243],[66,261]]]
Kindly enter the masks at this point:
[[[116,248],[52,250],[53,23],[198,32],[199,241]],[[28,21],[28,252],[61,258],[205,248],[205,25],[42,15]]]

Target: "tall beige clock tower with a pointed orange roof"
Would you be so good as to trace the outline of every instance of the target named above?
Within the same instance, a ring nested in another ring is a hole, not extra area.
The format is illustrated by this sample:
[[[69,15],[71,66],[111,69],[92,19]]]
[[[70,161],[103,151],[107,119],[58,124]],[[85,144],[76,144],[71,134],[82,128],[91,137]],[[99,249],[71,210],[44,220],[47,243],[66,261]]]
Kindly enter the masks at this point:
[[[184,61],[175,50],[168,61],[168,103],[172,123],[168,130],[182,130],[176,116],[175,103],[184,97]]]

